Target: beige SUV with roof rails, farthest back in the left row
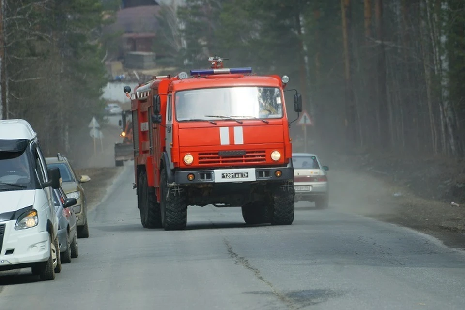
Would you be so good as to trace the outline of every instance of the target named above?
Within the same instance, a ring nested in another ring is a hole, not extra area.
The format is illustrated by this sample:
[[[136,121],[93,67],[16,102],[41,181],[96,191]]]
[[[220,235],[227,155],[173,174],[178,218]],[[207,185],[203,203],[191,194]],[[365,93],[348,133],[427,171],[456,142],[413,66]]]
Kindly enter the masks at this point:
[[[71,167],[68,159],[60,153],[56,157],[47,157],[47,166],[60,169],[62,176],[62,189],[68,198],[76,199],[77,203],[73,206],[74,212],[78,216],[78,238],[89,237],[89,225],[87,224],[87,201],[84,188],[81,183],[91,180],[87,175],[78,177]]]

